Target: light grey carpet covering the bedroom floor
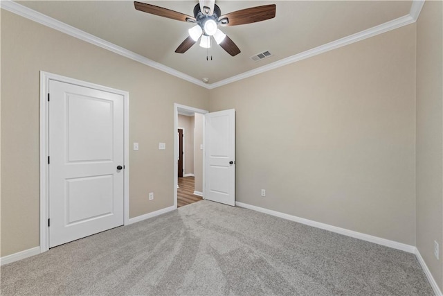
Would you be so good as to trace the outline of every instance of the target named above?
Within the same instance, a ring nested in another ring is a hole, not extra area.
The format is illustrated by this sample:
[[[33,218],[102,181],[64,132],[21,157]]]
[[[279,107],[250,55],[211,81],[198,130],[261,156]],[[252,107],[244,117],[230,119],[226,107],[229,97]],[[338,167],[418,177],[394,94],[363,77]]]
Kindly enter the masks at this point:
[[[433,295],[415,255],[203,200],[1,267],[2,295]]]

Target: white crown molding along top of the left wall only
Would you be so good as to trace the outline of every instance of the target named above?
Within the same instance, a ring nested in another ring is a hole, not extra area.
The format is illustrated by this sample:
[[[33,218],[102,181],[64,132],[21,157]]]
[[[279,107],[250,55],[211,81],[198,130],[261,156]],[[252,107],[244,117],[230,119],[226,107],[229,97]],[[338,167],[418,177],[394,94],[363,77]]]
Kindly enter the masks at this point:
[[[118,55],[123,55],[125,58],[129,58],[131,60],[135,60],[136,62],[141,62],[149,67],[154,69],[163,71],[172,76],[176,76],[188,82],[192,82],[195,85],[199,85],[201,87],[208,88],[206,83],[189,76],[188,74],[182,73],[175,69],[165,66],[164,64],[160,64],[159,62],[154,62],[148,58],[145,58],[143,55],[139,55],[138,53],[134,53],[133,51],[129,51],[124,49],[121,46],[113,44],[111,42],[107,42],[106,40],[102,40],[99,37],[96,37],[92,34],[86,33],[78,28],[70,26],[69,24],[65,24],[62,21],[58,21],[57,19],[53,19],[52,17],[48,17],[40,12],[27,8],[26,6],[22,6],[19,3],[16,3],[11,0],[1,0],[0,8],[8,10],[16,15],[20,15],[21,17],[25,17],[26,19],[30,19],[31,21],[35,21],[44,26],[48,26],[49,28],[53,28],[62,33],[66,33],[71,35],[72,37],[78,38],[85,42],[89,42],[90,44],[101,47],[102,49],[107,49],[108,51],[112,51],[113,53],[117,53]]]

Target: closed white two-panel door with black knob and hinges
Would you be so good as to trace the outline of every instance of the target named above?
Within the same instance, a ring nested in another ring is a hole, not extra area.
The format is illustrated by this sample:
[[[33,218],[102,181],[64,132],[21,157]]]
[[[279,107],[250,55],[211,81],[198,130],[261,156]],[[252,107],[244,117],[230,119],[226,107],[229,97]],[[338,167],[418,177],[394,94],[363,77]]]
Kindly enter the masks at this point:
[[[49,81],[49,247],[123,225],[123,96]]]

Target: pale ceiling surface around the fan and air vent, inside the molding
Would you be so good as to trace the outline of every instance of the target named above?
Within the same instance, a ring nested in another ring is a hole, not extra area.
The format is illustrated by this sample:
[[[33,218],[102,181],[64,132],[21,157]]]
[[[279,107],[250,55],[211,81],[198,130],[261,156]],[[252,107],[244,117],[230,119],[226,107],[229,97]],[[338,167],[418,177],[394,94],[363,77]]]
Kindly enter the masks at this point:
[[[140,0],[141,1],[141,0]],[[198,1],[143,1],[186,15]],[[48,17],[100,37],[154,62],[209,83],[220,82],[275,63],[317,46],[359,33],[408,15],[413,1],[216,1],[221,14],[275,3],[274,19],[222,27],[242,51],[231,57],[214,44],[198,43],[186,53],[174,53],[192,24],[150,15],[134,9],[133,1],[17,1]],[[273,56],[254,62],[251,55]]]

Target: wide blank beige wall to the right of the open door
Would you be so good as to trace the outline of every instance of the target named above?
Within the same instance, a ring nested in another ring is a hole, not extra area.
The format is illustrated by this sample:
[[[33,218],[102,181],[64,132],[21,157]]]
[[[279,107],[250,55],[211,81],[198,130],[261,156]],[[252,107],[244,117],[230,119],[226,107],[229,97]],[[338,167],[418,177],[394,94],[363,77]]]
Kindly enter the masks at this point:
[[[230,108],[237,201],[415,245],[415,24],[210,90]]]

